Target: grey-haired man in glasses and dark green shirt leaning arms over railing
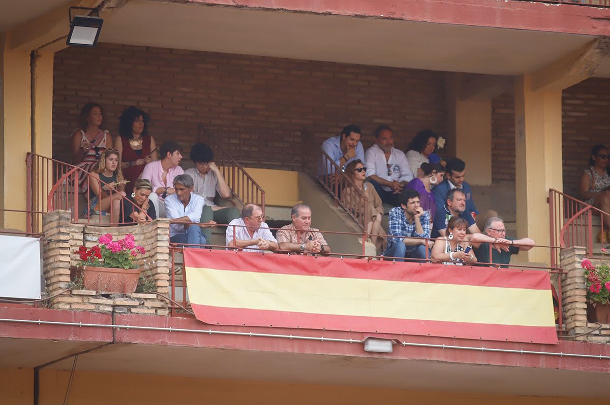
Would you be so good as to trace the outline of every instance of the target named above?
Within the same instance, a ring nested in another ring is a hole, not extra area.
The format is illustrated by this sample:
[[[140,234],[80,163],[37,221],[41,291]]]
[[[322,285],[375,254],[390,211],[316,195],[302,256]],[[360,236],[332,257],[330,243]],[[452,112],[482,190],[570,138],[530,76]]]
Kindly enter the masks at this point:
[[[488,218],[483,232],[484,234],[473,233],[469,238],[478,258],[477,266],[507,265],[511,262],[511,255],[516,255],[520,250],[530,250],[535,244],[530,238],[515,239],[506,236],[504,220],[499,217]],[[490,250],[492,252],[491,260],[489,259]]]

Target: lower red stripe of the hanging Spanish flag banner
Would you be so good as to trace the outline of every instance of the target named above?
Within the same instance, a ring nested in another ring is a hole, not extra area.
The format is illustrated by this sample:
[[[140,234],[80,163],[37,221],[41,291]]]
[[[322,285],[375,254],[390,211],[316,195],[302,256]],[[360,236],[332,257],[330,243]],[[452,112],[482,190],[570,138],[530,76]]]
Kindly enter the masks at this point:
[[[557,344],[554,326],[491,325],[487,323],[392,319],[352,315],[304,314],[302,312],[223,308],[192,304],[198,320],[211,325],[267,326],[274,328],[320,329],[363,333],[391,333],[462,339]],[[219,322],[222,320],[222,322]],[[524,339],[527,337],[527,339]]]

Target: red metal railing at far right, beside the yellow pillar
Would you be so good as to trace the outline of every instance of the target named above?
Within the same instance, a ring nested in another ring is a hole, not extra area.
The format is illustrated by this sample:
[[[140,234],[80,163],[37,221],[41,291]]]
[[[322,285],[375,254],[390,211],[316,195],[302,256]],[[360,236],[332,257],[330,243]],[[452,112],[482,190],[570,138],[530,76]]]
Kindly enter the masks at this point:
[[[599,217],[600,233],[605,234],[604,218],[610,214],[595,208],[556,189],[548,195],[550,213],[551,246],[566,248],[584,246],[587,256],[593,255],[593,245],[597,235],[594,232],[594,217]],[[608,242],[608,241],[606,241]],[[559,265],[559,250],[551,251],[551,266]]]

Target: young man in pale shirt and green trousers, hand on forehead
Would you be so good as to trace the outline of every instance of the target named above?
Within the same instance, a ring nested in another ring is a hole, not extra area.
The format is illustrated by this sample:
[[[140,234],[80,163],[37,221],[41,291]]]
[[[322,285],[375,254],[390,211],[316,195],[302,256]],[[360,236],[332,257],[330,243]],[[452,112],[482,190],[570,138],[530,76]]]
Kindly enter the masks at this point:
[[[231,188],[216,163],[214,163],[214,152],[212,148],[204,143],[196,143],[191,148],[190,158],[195,167],[185,170],[185,174],[190,175],[195,181],[193,192],[201,195],[206,200],[206,205],[201,213],[201,222],[213,220],[217,224],[229,224],[234,219],[240,217],[239,210],[234,206],[218,206],[214,202],[214,197],[220,195],[223,199],[231,198]],[[207,240],[210,240],[212,231],[210,228],[203,230]]]

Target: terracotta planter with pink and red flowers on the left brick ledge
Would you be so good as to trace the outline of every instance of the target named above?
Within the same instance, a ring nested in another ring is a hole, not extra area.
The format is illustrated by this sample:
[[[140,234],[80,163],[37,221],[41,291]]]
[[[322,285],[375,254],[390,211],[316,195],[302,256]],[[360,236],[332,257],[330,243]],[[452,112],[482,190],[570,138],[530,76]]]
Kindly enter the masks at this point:
[[[112,235],[107,233],[98,241],[99,245],[89,249],[81,246],[76,251],[81,261],[70,268],[72,280],[82,280],[82,286],[87,290],[135,292],[140,277],[135,259],[146,250],[135,244],[132,234],[113,241]]]

